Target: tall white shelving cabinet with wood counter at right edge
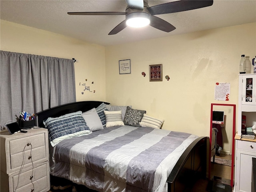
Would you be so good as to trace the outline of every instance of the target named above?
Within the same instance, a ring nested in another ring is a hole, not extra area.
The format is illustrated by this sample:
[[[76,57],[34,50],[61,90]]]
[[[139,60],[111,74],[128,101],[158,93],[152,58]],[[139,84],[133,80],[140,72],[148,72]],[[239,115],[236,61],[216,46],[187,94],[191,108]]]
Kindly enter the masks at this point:
[[[256,124],[256,74],[239,75],[238,126],[235,159],[235,192],[252,191],[252,158],[256,158],[256,138],[241,138],[242,115],[246,116],[246,126]]]

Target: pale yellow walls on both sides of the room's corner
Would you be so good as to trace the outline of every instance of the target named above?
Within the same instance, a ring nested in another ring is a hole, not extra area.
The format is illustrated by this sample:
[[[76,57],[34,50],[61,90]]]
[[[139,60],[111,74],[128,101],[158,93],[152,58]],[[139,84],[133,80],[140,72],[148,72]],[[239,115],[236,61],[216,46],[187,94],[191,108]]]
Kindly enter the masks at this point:
[[[240,56],[251,60],[256,54],[256,23],[106,48],[4,20],[0,24],[1,50],[79,60],[77,101],[132,105],[165,119],[164,129],[199,136],[209,135],[211,103],[238,103]],[[119,75],[118,60],[124,59],[131,59],[132,73]],[[150,64],[163,64],[162,82],[149,82]],[[216,82],[231,84],[230,101],[214,100]],[[80,83],[96,92],[82,95]]]

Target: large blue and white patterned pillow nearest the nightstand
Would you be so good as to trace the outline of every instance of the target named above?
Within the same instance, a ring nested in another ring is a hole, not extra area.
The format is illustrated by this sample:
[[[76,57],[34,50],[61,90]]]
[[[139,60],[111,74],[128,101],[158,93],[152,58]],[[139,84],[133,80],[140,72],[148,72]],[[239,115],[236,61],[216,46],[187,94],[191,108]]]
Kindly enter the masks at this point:
[[[44,121],[44,126],[48,129],[50,143],[53,147],[64,139],[92,133],[86,125],[82,111],[56,118],[49,117]]]

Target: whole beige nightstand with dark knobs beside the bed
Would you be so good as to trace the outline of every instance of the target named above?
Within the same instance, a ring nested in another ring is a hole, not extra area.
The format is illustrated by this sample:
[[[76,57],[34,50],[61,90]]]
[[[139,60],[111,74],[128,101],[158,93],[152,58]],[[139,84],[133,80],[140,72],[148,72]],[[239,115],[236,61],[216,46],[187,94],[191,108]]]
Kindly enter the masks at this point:
[[[50,190],[48,130],[27,131],[12,135],[0,132],[1,192]]]

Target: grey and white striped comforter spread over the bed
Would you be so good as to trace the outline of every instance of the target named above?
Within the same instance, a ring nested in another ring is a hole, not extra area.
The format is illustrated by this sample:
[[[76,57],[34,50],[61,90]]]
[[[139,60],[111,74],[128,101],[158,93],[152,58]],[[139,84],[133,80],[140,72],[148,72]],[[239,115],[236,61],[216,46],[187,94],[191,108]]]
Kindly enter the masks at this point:
[[[172,168],[196,138],[146,127],[104,128],[58,143],[51,174],[99,192],[167,192]]]

